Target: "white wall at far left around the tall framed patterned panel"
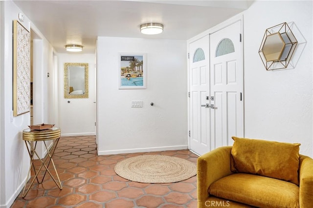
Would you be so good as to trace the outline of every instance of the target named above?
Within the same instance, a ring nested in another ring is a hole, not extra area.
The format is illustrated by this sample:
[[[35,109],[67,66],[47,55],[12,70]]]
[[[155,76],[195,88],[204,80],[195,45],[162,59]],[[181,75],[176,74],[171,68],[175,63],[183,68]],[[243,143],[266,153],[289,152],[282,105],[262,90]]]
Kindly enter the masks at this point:
[[[29,156],[22,141],[22,129],[30,123],[30,114],[14,117],[10,122],[13,106],[13,20],[21,12],[12,1],[1,2],[1,207],[10,205],[19,194],[24,182]],[[25,17],[22,25],[29,30],[29,20]],[[18,158],[18,160],[17,160]]]

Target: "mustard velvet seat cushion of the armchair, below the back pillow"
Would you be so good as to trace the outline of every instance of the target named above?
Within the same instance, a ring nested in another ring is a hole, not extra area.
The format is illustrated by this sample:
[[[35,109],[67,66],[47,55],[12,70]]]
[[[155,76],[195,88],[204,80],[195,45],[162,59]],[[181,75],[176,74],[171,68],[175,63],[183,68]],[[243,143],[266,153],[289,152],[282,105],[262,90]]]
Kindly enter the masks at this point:
[[[259,175],[235,173],[211,184],[208,192],[210,195],[255,207],[299,207],[297,185]]]

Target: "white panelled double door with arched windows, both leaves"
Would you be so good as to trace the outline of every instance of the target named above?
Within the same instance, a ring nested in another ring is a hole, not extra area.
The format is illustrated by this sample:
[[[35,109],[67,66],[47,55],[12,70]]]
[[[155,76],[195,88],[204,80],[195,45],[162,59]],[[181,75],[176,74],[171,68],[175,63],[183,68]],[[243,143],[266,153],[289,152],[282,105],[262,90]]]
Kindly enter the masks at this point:
[[[241,21],[189,44],[189,147],[202,155],[243,136]]]

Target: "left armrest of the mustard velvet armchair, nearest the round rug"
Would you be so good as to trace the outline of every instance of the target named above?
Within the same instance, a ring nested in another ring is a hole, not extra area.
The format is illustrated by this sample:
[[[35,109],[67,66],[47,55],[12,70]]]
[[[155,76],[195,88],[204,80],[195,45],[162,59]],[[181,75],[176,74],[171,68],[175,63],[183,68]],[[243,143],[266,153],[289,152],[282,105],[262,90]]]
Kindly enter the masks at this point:
[[[209,186],[232,174],[230,171],[231,146],[222,146],[201,155],[197,160],[197,195],[198,202],[209,196]]]

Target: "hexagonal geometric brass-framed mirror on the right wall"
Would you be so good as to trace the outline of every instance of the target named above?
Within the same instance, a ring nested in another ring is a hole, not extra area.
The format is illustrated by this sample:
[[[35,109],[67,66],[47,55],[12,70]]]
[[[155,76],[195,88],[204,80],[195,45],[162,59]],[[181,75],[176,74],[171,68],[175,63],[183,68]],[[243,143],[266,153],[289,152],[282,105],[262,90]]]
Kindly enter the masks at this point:
[[[287,68],[297,40],[286,22],[266,29],[259,55],[266,70]]]

